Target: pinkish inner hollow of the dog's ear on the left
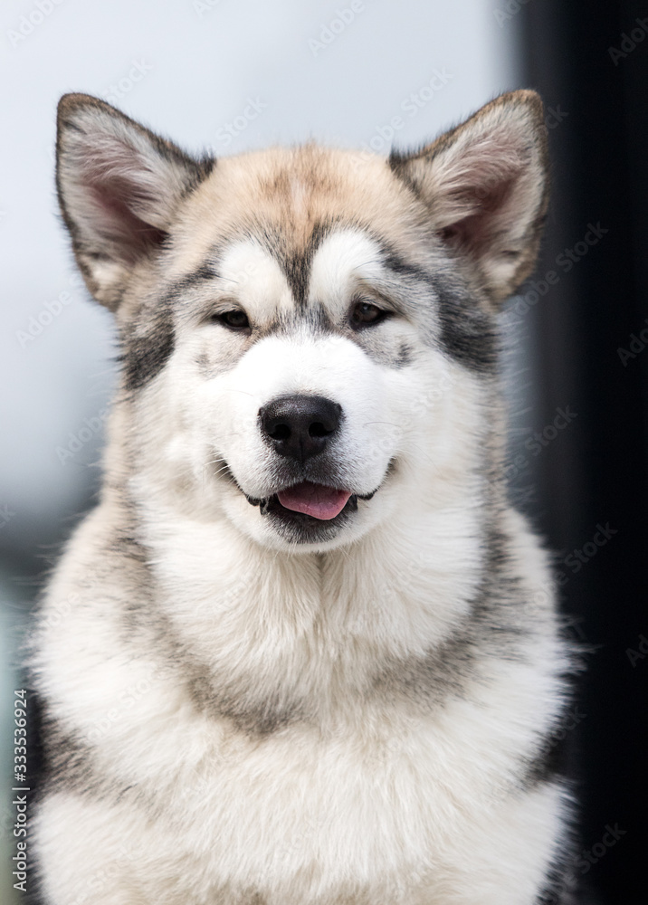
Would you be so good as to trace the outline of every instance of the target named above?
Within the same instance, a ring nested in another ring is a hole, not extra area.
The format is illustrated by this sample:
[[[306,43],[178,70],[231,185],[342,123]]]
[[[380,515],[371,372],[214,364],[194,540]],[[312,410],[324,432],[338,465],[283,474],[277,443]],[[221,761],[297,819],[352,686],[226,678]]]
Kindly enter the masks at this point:
[[[146,212],[154,216],[160,186],[138,151],[110,137],[83,148],[80,157],[83,213],[98,238],[129,264],[159,246],[167,233],[148,223]]]

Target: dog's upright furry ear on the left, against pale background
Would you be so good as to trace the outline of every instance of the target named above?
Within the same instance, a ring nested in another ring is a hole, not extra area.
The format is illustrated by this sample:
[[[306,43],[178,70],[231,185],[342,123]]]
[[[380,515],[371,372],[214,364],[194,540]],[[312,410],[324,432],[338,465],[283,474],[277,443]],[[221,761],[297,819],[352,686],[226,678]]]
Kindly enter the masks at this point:
[[[139,262],[159,251],[182,198],[214,160],[195,160],[103,100],[59,102],[56,185],[72,247],[92,295],[119,305]]]

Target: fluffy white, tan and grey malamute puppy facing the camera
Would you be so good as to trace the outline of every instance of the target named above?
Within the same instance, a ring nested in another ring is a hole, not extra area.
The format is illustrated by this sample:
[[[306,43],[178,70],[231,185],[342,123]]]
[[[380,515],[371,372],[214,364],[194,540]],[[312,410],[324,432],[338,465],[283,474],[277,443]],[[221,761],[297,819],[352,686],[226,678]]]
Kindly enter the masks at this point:
[[[499,370],[547,171],[530,90],[388,159],[191,157],[62,98],[120,376],[33,630],[48,905],[576,900],[578,654]]]

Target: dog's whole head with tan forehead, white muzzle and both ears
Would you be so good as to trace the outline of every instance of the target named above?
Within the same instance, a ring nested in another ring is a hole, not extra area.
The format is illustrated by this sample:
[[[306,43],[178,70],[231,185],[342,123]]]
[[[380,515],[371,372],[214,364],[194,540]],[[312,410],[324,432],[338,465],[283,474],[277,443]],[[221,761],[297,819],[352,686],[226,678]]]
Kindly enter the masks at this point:
[[[546,207],[536,95],[389,161],[215,164],[69,95],[58,148],[77,260],[117,312],[140,502],[155,485],[187,517],[323,550],[475,472],[497,304]]]

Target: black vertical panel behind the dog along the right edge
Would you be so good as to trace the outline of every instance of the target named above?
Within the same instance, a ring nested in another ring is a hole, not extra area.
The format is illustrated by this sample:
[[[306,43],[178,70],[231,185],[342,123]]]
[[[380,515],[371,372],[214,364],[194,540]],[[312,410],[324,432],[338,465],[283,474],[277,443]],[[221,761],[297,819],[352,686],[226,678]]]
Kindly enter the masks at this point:
[[[520,18],[526,82],[567,113],[549,129],[554,196],[538,266],[559,280],[532,331],[544,423],[566,404],[577,418],[532,464],[567,612],[599,645],[575,732],[578,871],[605,903],[638,903],[648,898],[648,2],[531,0]]]

